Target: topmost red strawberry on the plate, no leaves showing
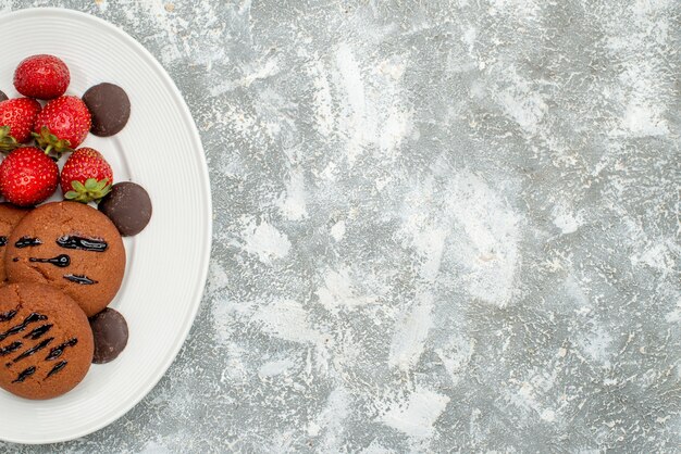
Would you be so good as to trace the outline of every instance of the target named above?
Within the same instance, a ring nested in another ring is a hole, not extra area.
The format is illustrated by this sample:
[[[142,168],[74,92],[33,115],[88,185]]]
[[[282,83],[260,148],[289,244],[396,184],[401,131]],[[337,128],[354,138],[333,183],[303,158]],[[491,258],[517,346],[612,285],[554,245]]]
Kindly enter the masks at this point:
[[[70,81],[69,67],[54,55],[29,56],[14,71],[16,91],[30,98],[59,98],[64,94]]]

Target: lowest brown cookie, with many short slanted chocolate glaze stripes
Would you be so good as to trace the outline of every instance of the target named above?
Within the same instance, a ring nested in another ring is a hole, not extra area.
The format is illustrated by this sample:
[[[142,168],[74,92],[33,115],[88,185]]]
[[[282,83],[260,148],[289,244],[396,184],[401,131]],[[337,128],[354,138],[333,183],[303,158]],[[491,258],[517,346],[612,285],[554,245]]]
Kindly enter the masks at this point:
[[[94,351],[87,317],[70,297],[44,283],[0,288],[0,388],[57,398],[83,380]]]

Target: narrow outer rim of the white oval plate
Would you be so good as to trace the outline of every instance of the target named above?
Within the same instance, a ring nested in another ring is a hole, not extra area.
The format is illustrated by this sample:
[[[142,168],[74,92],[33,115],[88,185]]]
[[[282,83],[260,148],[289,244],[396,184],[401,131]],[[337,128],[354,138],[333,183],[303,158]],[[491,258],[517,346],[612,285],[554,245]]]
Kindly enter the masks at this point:
[[[170,366],[177,358],[177,355],[179,351],[182,350],[183,345],[185,344],[187,337],[189,336],[189,331],[191,327],[194,326],[194,321],[196,320],[196,316],[198,314],[198,311],[201,306],[201,302],[203,300],[203,295],[206,293],[208,270],[210,266],[210,257],[211,257],[212,241],[213,241],[212,193],[211,193],[211,187],[210,187],[210,174],[208,172],[206,150],[203,149],[203,144],[201,142],[201,137],[196,126],[196,122],[194,121],[194,117],[191,116],[191,111],[189,110],[189,106],[187,105],[187,102],[185,101],[185,98],[183,97],[182,91],[179,91],[179,89],[175,85],[175,81],[170,76],[168,71],[163,67],[163,65],[158,61],[158,59],[145,46],[143,46],[138,40],[136,40],[129,34],[127,34],[127,31],[125,31],[123,28],[116,26],[115,24],[112,24],[109,21],[106,21],[101,17],[98,17],[96,15],[92,15],[83,11],[73,10],[70,8],[59,8],[59,7],[32,7],[32,8],[25,8],[21,10],[2,13],[0,14],[0,22],[16,18],[18,16],[30,16],[35,14],[47,14],[47,15],[63,14],[63,15],[71,15],[71,16],[77,17],[77,20],[81,20],[81,21],[92,21],[97,25],[108,28],[110,31],[115,34],[116,37],[126,41],[131,47],[135,48],[138,52],[140,52],[148,60],[149,64],[158,73],[162,81],[169,87],[169,89],[178,100],[178,104],[179,104],[178,112],[181,116],[183,117],[183,119],[188,125],[188,129],[190,130],[189,139],[194,143],[196,149],[201,151],[201,153],[197,153],[198,154],[197,157],[199,160],[198,162],[199,172],[202,177],[201,181],[199,182],[199,186],[202,189],[203,194],[205,194],[202,200],[203,200],[205,207],[206,207],[208,215],[207,215],[206,225],[203,228],[205,230],[203,235],[206,236],[205,238],[207,239],[207,241],[205,242],[205,251],[202,253],[205,258],[202,260],[200,264],[200,269],[198,273],[199,281],[197,282],[197,283],[200,283],[200,286],[199,285],[196,286],[194,298],[191,299],[193,307],[191,307],[190,316],[187,317],[184,326],[178,331],[178,336],[175,338],[175,343],[171,349],[172,354],[168,355],[166,358],[159,364],[157,376],[156,377],[152,376],[152,379],[149,380],[149,383],[147,386],[140,387],[138,391],[129,400],[129,402],[123,405],[119,412],[112,413],[110,417],[106,418],[101,423],[96,424],[92,427],[88,427],[84,430],[64,434],[63,437],[52,437],[49,439],[40,439],[40,440],[18,439],[18,438],[13,439],[11,437],[7,438],[5,436],[0,434],[0,441],[8,442],[8,443],[25,444],[25,445],[63,443],[63,442],[83,438],[90,433],[95,433],[110,426],[111,424],[115,423],[121,417],[125,416],[131,409],[137,406],[137,404],[139,404],[153,390],[153,388],[156,388],[159,381],[161,381],[161,379],[168,373],[168,369],[170,368]]]

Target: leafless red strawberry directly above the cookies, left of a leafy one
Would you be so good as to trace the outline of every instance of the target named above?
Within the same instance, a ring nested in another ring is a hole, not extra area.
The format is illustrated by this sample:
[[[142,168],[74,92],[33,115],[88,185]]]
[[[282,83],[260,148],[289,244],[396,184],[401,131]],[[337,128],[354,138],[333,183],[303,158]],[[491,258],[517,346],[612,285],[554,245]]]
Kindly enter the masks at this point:
[[[54,193],[58,184],[57,163],[39,148],[17,148],[0,164],[0,192],[15,205],[42,202]]]

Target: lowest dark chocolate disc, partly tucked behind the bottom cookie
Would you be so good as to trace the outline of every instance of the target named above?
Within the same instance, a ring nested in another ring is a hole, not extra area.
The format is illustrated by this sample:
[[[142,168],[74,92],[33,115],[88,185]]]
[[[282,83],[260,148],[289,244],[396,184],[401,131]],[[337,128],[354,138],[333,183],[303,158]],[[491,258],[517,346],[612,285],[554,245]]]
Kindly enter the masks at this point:
[[[92,363],[112,362],[127,345],[127,321],[120,312],[111,307],[107,307],[89,320],[95,337]]]

